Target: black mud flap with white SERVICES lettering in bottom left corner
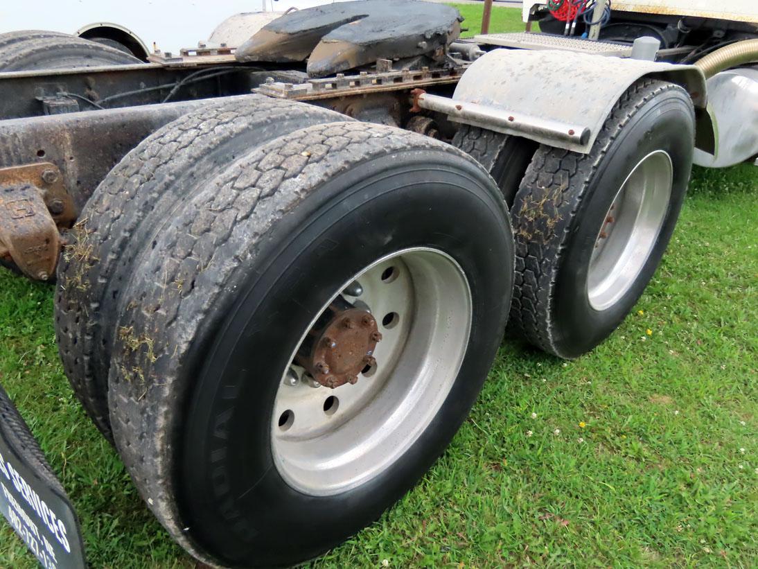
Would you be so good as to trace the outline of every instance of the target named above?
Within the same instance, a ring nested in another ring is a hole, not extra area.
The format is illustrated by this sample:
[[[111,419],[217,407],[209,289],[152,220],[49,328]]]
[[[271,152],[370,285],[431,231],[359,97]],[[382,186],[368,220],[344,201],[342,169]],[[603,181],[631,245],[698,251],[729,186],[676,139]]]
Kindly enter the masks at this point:
[[[86,567],[77,514],[2,387],[0,511],[45,569]]]

